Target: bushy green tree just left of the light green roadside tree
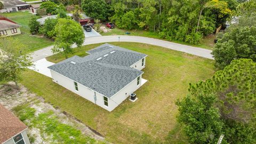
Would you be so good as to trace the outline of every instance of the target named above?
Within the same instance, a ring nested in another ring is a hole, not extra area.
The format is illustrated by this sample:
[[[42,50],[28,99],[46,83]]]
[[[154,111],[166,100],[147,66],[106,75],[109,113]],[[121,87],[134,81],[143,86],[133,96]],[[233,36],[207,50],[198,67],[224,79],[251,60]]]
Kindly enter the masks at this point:
[[[41,34],[44,34],[46,37],[52,38],[55,37],[54,27],[57,25],[57,19],[46,19],[44,25],[39,29]]]

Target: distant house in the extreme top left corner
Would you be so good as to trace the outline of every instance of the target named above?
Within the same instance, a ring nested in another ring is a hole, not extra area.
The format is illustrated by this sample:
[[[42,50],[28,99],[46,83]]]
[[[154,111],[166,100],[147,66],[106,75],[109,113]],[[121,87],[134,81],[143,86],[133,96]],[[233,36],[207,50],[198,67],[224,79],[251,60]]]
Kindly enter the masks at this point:
[[[0,12],[17,12],[21,10],[29,10],[30,4],[26,2],[22,2],[19,0],[0,0],[3,5],[4,9],[0,10]]]

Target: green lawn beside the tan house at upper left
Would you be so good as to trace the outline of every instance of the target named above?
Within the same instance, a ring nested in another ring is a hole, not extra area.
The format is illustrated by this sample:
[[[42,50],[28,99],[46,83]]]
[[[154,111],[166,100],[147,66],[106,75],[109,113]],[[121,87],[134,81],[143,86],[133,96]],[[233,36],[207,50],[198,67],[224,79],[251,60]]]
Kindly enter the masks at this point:
[[[2,13],[2,15],[21,25],[21,28],[20,28],[21,34],[14,35],[12,37],[17,38],[20,43],[26,44],[28,46],[28,51],[27,51],[28,53],[53,45],[53,41],[49,38],[45,38],[42,36],[31,36],[29,34],[28,24],[32,14],[29,13],[28,11]]]

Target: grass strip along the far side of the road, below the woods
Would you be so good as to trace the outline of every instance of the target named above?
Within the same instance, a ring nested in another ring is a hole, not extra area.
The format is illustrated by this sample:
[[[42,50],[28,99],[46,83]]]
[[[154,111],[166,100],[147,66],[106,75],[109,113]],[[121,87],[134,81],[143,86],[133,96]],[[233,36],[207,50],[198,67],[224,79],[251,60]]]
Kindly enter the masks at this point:
[[[108,33],[102,33],[101,35],[103,35],[103,36],[126,35],[125,34],[126,31],[129,31],[131,33],[130,35],[133,35],[133,36],[151,37],[151,38],[157,38],[157,39],[162,39],[162,40],[167,41],[166,39],[161,38],[158,33],[154,33],[154,32],[148,31],[148,30],[124,30],[124,29],[119,29],[116,27],[111,29],[111,31],[109,31]],[[215,38],[215,35],[210,35],[210,36],[204,37],[203,41],[198,45],[188,44],[188,43],[179,42],[179,41],[172,41],[172,42],[196,46],[196,47],[202,47],[204,49],[212,50],[214,47],[214,38]]]

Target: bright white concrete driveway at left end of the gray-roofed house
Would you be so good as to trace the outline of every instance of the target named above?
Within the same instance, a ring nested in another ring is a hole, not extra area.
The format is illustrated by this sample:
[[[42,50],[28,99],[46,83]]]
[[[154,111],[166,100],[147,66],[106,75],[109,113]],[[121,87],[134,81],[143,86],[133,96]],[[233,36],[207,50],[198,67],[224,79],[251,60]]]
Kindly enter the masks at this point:
[[[29,67],[29,69],[36,71],[37,73],[43,74],[47,77],[51,77],[50,69],[47,68],[49,66],[54,65],[55,63],[47,61],[45,58],[41,60],[37,60],[34,62],[33,67]]]

